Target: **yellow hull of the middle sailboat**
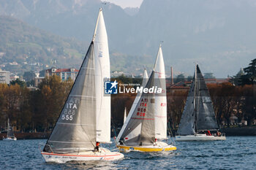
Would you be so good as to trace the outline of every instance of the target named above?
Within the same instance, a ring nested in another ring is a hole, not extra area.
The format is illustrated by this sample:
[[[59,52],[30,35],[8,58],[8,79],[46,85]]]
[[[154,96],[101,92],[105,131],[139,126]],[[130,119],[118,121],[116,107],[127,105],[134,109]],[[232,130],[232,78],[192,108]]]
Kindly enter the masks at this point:
[[[129,146],[123,146],[118,145],[118,150],[120,152],[129,152],[129,151],[139,151],[139,152],[164,152],[164,151],[171,151],[171,150],[177,150],[174,146],[167,146],[167,147],[129,147]]]

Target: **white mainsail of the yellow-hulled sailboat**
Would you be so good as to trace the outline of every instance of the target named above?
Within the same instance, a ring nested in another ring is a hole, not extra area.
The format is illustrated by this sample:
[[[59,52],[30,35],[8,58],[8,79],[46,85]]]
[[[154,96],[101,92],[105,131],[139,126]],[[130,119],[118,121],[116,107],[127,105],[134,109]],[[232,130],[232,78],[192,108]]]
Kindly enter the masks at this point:
[[[162,88],[162,93],[155,96],[155,137],[157,139],[167,138],[167,102],[166,102],[166,82],[165,63],[162,56],[162,47],[159,46],[157,59],[154,65],[155,85]]]

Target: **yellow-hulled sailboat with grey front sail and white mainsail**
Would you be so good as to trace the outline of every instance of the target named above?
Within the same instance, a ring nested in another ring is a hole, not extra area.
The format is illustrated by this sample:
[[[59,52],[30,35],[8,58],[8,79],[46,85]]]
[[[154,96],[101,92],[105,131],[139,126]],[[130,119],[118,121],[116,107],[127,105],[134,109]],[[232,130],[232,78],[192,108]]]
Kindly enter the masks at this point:
[[[141,86],[148,89],[159,88],[160,93],[138,93],[127,120],[116,138],[117,147],[121,152],[176,150],[175,146],[163,142],[167,139],[167,106],[165,64],[161,45],[148,81],[145,72]]]

